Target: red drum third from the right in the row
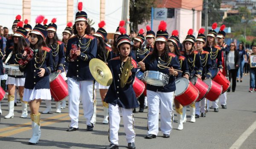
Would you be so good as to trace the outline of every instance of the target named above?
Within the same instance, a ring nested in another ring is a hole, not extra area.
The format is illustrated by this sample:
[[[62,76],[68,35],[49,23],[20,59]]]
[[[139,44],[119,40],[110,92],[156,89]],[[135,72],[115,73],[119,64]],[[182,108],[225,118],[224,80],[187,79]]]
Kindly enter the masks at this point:
[[[196,100],[196,102],[199,102],[201,101],[205,95],[207,94],[208,92],[208,85],[207,83],[205,83],[204,81],[202,81],[201,79],[198,79],[198,77],[192,77],[190,79],[191,83],[198,89],[199,91],[199,97],[198,99]]]

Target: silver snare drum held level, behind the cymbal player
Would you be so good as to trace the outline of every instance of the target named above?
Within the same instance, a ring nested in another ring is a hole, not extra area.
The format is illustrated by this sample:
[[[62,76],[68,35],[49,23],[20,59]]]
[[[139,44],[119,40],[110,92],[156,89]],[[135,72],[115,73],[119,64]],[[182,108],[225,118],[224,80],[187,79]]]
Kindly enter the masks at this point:
[[[143,74],[143,80],[150,85],[165,86],[168,84],[169,76],[162,72],[146,71]]]

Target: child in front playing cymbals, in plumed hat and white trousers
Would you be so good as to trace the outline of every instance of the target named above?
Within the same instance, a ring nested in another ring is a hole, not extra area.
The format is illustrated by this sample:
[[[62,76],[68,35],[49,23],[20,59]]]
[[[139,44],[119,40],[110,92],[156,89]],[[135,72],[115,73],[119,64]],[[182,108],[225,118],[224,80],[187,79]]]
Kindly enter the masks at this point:
[[[127,72],[130,76],[124,88],[121,88],[121,74],[125,62],[129,58],[131,51],[131,40],[125,34],[125,28],[119,28],[120,35],[117,38],[117,48],[120,53],[119,57],[115,57],[108,61],[108,67],[113,75],[113,82],[110,85],[107,95],[104,99],[108,104],[109,110],[109,142],[110,145],[105,149],[118,149],[118,130],[120,123],[120,113],[122,113],[126,140],[128,149],[135,149],[135,132],[134,132],[134,115],[133,109],[138,107],[138,101],[135,97],[132,83],[137,71],[137,63],[132,59],[131,71]]]

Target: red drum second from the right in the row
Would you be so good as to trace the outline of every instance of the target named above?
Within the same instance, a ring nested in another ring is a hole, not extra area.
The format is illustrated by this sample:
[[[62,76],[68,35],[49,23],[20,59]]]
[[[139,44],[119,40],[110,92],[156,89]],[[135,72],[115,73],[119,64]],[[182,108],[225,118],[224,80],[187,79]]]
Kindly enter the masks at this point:
[[[208,92],[205,95],[205,98],[210,101],[217,100],[218,97],[221,95],[222,86],[211,79],[205,79],[204,82],[207,83],[209,86]]]

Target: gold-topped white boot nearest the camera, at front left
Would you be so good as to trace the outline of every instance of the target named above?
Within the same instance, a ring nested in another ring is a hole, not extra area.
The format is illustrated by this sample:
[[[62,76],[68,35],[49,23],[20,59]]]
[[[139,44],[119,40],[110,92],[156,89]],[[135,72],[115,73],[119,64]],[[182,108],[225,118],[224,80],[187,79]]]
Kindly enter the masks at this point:
[[[36,115],[31,115],[32,120],[32,137],[29,140],[30,144],[38,143],[41,137],[41,129],[40,129],[40,113]]]

